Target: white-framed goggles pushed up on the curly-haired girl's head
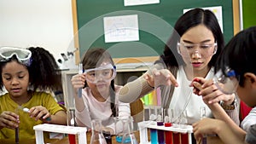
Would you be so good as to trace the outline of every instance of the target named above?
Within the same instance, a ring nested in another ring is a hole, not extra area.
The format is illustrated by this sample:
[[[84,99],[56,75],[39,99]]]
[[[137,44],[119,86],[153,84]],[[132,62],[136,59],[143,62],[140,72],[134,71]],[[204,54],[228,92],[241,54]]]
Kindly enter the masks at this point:
[[[11,59],[14,55],[21,63],[28,64],[30,62],[32,53],[28,49],[20,49],[14,47],[0,48],[0,61],[7,61]]]

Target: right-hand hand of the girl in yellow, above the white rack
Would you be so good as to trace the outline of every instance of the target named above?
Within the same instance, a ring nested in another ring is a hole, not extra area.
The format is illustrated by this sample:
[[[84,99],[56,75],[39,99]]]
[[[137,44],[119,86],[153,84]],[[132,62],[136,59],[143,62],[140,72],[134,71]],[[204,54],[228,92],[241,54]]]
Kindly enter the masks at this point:
[[[44,123],[49,123],[50,119],[50,114],[49,111],[42,106],[36,106],[32,107],[29,110],[29,114],[31,118],[35,118],[37,121],[38,119],[42,120]]]

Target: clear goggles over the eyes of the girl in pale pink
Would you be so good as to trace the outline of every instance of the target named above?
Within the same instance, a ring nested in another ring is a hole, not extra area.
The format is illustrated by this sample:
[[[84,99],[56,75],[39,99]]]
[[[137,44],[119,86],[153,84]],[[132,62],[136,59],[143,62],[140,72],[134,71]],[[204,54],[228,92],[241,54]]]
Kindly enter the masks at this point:
[[[111,64],[99,66],[84,71],[88,82],[96,84],[99,81],[109,82],[116,76],[116,68]]]

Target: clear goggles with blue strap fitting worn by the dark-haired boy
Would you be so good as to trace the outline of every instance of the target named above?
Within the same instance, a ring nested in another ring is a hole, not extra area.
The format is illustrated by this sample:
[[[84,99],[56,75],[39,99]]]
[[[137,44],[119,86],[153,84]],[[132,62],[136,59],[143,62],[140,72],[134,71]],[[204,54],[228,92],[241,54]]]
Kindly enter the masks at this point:
[[[226,68],[225,72],[219,70],[213,77],[213,83],[224,94],[230,95],[236,92],[240,77],[234,70]]]

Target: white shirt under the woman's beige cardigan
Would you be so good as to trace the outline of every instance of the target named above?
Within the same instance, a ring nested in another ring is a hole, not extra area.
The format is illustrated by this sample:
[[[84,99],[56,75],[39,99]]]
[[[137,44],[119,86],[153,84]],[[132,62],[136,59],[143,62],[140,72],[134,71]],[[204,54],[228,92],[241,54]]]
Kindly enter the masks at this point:
[[[210,79],[213,78],[213,76],[214,70],[211,68],[206,78]],[[188,124],[193,124],[201,119],[201,107],[206,107],[206,117],[212,118],[211,109],[202,101],[201,96],[193,93],[193,87],[189,87],[191,81],[187,78],[183,66],[180,66],[177,71],[177,84],[179,84],[179,86],[173,91],[169,108],[179,111],[185,108]]]

